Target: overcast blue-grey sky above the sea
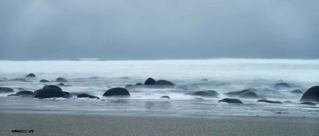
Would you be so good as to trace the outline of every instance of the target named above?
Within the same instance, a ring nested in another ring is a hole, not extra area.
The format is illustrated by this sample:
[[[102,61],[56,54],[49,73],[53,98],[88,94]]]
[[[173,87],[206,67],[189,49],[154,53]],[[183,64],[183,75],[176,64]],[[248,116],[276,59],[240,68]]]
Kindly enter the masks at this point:
[[[319,58],[318,0],[1,0],[0,60]]]

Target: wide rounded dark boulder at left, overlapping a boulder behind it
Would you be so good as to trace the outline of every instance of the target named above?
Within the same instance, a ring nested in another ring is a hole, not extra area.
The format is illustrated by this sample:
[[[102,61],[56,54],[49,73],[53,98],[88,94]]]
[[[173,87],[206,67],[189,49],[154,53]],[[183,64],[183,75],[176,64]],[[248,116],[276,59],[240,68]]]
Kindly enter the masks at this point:
[[[57,88],[44,88],[37,91],[34,91],[34,98],[45,99],[50,97],[64,97],[65,94],[62,90]]]

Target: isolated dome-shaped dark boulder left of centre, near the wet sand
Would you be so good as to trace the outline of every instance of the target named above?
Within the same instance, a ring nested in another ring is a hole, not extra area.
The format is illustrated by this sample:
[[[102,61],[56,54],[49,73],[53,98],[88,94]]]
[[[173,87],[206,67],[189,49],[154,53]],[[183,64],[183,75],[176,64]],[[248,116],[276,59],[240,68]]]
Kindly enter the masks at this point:
[[[116,88],[112,88],[109,89],[108,91],[106,91],[103,96],[104,98],[130,98],[130,92],[127,91],[125,88],[121,88],[121,87],[116,87]]]

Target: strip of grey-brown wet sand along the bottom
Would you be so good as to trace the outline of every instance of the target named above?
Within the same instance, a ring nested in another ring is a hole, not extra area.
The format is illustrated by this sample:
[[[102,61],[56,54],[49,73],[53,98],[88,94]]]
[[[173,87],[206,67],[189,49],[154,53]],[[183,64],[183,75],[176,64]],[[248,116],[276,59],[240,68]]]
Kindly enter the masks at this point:
[[[319,118],[161,117],[0,112],[0,135],[287,135],[318,136]],[[11,130],[34,130],[14,133]]]

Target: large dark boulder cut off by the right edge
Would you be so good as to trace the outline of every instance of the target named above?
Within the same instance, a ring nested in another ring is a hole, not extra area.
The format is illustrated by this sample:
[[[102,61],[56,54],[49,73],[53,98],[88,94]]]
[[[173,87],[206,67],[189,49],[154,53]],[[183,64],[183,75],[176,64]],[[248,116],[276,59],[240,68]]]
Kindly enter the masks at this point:
[[[300,101],[308,102],[314,101],[319,102],[319,86],[312,86],[302,96]]]

